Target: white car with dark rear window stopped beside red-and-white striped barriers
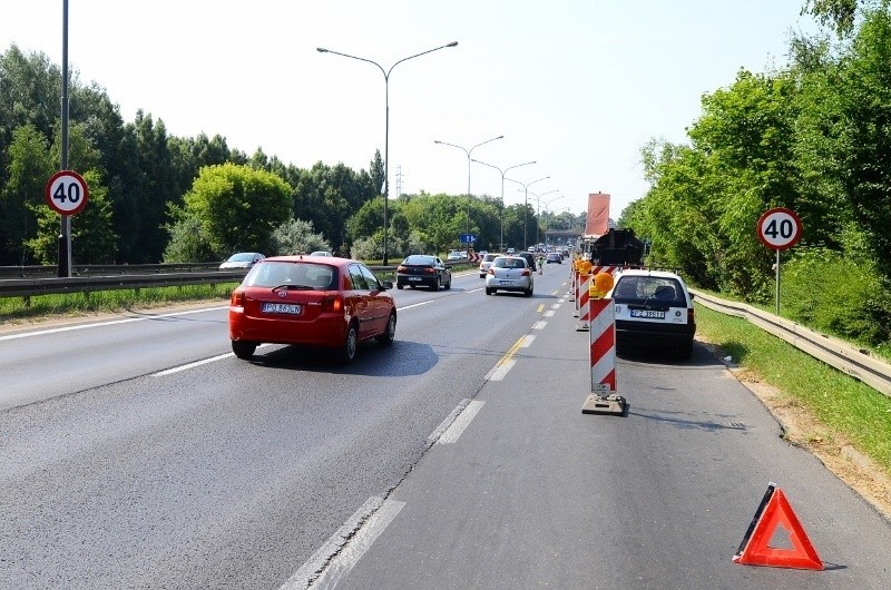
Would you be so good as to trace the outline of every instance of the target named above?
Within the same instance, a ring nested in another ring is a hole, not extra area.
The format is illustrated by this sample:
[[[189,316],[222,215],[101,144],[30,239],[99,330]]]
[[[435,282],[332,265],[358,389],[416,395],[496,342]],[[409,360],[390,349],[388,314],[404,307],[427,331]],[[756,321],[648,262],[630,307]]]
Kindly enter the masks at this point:
[[[678,357],[691,357],[696,322],[693,295],[681,276],[664,271],[623,271],[607,297],[615,303],[617,352],[670,346]]]

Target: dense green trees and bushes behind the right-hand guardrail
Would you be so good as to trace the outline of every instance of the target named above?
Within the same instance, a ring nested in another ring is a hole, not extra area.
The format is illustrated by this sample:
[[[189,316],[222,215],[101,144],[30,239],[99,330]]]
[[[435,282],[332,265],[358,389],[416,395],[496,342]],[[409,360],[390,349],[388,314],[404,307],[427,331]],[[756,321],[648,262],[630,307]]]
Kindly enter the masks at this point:
[[[781,260],[784,315],[870,344],[891,336],[891,13],[888,2],[812,0],[836,33],[796,36],[789,63],[741,70],[706,94],[688,144],[642,149],[646,196],[620,225],[650,263],[765,303],[773,250],[758,217],[787,207],[800,244]]]

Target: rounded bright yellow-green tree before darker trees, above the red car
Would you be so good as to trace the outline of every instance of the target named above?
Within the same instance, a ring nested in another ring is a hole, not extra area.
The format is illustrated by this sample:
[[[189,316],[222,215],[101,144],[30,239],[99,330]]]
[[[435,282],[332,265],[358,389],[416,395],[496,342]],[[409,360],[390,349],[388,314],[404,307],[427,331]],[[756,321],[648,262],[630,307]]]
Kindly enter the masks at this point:
[[[268,252],[273,229],[291,216],[287,183],[244,165],[202,168],[184,200],[185,212],[200,219],[218,256]]]

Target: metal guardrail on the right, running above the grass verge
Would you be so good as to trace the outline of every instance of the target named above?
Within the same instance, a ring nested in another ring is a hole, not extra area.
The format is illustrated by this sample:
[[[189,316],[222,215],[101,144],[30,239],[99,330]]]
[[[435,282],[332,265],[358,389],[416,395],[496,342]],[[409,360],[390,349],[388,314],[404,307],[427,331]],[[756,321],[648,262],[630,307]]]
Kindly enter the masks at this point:
[[[869,351],[751,305],[719,299],[694,289],[691,289],[691,293],[696,296],[696,303],[715,312],[745,318],[765,332],[783,338],[796,348],[891,397],[891,364],[872,356]]]

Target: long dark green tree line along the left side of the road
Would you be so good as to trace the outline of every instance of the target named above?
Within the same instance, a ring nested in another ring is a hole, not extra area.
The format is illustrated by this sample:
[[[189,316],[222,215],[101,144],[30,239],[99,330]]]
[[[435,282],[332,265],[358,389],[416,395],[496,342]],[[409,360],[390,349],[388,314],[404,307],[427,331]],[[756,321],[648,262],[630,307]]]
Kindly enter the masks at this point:
[[[138,111],[125,122],[96,82],[69,76],[69,168],[85,177],[87,207],[71,220],[77,264],[209,262],[233,252],[292,254],[331,249],[383,257],[384,164],[368,170],[285,164],[225,137],[176,137]],[[0,265],[57,264],[59,216],[43,199],[61,155],[61,68],[14,45],[0,55]],[[526,209],[526,212],[523,212]],[[521,246],[536,228],[581,227],[578,214],[536,215],[528,205],[467,195],[401,195],[388,207],[392,258],[459,247]]]

